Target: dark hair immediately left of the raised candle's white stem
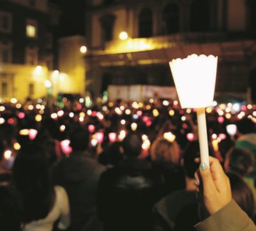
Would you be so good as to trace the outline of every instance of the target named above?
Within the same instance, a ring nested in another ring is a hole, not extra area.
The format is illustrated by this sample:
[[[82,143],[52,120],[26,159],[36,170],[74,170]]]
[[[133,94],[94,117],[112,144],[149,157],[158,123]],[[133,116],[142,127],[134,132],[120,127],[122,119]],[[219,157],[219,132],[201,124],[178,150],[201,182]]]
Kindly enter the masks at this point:
[[[188,144],[183,153],[183,166],[187,177],[193,178],[199,168],[199,164],[195,163],[197,157],[200,157],[199,142],[193,141]]]

